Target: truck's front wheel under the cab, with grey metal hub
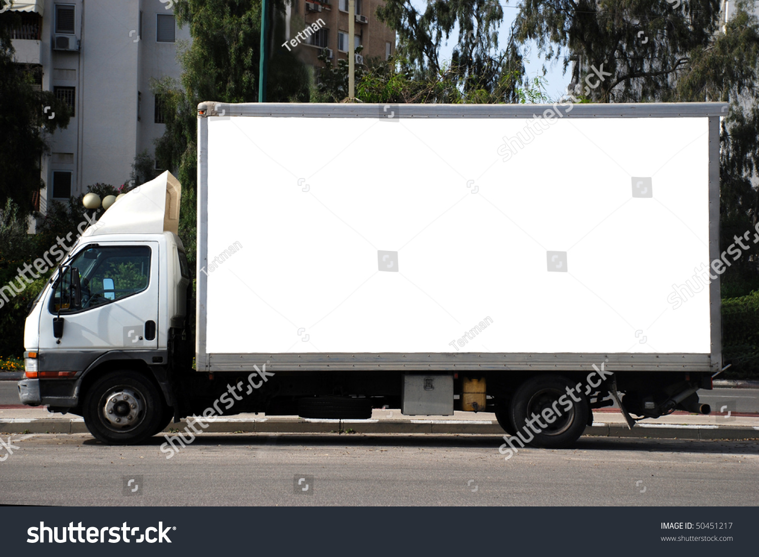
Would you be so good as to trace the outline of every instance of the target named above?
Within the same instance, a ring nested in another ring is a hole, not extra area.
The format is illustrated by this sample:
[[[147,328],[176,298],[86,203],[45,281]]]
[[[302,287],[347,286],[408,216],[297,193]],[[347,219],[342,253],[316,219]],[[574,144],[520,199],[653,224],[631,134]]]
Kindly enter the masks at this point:
[[[84,395],[82,416],[98,441],[136,445],[159,431],[164,408],[161,394],[150,379],[124,370],[108,373],[90,386]]]

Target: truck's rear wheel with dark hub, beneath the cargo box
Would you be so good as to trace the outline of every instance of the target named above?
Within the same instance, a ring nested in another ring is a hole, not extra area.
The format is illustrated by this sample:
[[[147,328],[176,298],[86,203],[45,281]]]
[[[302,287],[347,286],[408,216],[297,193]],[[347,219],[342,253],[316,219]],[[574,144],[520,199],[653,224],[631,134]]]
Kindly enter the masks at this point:
[[[575,385],[575,382],[558,375],[537,376],[522,383],[514,393],[510,408],[512,423],[521,433],[519,438],[533,447],[567,448],[574,445],[584,432],[588,414],[591,413],[585,395],[573,392],[579,401],[568,395],[567,388],[574,389]],[[564,402],[560,404],[559,400]],[[572,403],[571,407],[567,406],[568,402]],[[549,416],[558,414],[552,423],[540,417],[546,408],[551,408]],[[533,420],[537,433],[527,424],[527,420],[535,414],[539,415],[540,420]]]

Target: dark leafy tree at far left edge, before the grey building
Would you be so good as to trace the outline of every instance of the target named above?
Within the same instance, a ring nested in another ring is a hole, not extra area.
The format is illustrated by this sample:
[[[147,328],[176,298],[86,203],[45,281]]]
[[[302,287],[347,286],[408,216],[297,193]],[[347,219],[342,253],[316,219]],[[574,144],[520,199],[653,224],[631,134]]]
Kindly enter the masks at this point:
[[[5,106],[0,112],[0,203],[14,200],[25,216],[33,211],[33,195],[45,185],[39,161],[50,150],[47,134],[67,127],[70,115],[54,93],[37,90],[41,75],[35,68],[14,62],[11,36],[19,25],[16,12],[0,14],[0,102]]]

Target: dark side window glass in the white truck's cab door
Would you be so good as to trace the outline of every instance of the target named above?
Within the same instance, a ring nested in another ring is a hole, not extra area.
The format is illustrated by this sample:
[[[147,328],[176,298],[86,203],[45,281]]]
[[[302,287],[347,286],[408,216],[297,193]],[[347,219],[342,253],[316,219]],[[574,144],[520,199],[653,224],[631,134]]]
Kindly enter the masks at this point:
[[[81,305],[71,307],[66,273],[55,282],[55,294],[50,298],[52,313],[87,310],[145,290],[150,281],[150,247],[85,247],[68,265],[79,272]]]

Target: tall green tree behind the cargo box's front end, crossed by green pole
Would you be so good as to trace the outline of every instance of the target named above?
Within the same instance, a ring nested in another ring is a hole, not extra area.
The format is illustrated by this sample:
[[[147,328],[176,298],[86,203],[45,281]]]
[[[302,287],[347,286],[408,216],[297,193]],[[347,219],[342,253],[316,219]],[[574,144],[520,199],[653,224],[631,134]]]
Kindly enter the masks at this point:
[[[284,42],[285,2],[273,5],[273,44]],[[197,105],[202,101],[256,102],[260,58],[260,0],[185,0],[175,4],[178,24],[187,25],[191,45],[178,55],[179,81],[160,80],[153,92],[166,108],[165,133],[156,141],[156,158],[177,173],[182,184],[180,237],[194,266]],[[282,40],[279,40],[282,39]],[[282,52],[280,52],[282,51]],[[276,49],[267,80],[269,102],[308,101],[304,65],[285,49]]]

